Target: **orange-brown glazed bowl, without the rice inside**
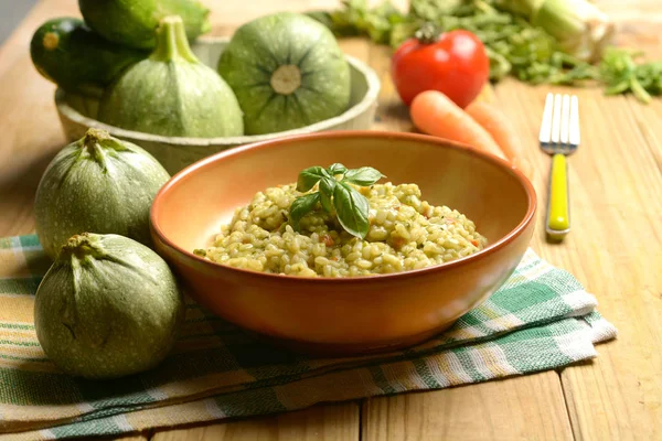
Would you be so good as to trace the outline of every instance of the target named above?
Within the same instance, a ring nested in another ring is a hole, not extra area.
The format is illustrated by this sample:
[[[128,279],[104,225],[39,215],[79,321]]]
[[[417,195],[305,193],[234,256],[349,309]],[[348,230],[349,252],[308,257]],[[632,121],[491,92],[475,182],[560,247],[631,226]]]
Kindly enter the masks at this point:
[[[424,201],[473,220],[488,246],[435,267],[350,278],[256,272],[192,252],[255,193],[334,162],[374,166],[388,176],[382,182],[418,184]],[[535,211],[528,180],[496,157],[423,135],[337,131],[258,142],[190,165],[158,193],[151,227],[157,251],[215,314],[296,351],[352,355],[423,342],[479,305],[520,262]]]

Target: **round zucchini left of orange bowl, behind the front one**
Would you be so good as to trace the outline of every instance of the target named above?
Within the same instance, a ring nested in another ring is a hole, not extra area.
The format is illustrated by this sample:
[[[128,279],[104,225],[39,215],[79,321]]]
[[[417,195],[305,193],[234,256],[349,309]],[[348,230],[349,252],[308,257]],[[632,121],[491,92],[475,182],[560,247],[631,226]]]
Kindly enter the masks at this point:
[[[45,254],[56,258],[71,236],[84,232],[151,246],[149,211],[169,179],[140,147],[88,129],[53,158],[36,189],[34,223]]]

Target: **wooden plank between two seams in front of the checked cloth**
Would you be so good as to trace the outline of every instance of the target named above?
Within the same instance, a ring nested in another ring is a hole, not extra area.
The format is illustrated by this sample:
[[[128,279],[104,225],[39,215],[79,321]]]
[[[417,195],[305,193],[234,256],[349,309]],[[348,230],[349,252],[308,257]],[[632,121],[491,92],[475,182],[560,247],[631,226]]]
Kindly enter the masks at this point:
[[[555,372],[365,400],[362,441],[572,440]]]

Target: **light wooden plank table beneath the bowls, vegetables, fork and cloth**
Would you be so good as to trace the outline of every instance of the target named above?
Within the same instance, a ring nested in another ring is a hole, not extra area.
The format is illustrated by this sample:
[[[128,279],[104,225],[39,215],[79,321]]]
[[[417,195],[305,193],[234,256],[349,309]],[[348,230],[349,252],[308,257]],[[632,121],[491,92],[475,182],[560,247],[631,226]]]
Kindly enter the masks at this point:
[[[331,8],[332,0],[211,1],[214,33],[275,10]],[[662,58],[659,0],[600,0],[621,22],[619,43]],[[30,63],[28,42],[47,18],[78,15],[74,0],[42,0],[0,49],[0,236],[32,233],[39,179],[65,143],[54,87]],[[383,82],[376,130],[409,130],[406,108],[388,77],[387,47],[361,39],[345,52],[369,61]],[[549,158],[536,135],[549,87],[514,80],[492,98],[531,148],[534,184],[545,202]],[[562,88],[554,88],[562,92]],[[562,245],[544,238],[538,218],[533,248],[572,271],[620,332],[599,357],[559,372],[438,391],[337,405],[269,418],[152,430],[135,439],[224,440],[662,440],[662,98],[579,96],[583,144],[569,160],[573,232]]]

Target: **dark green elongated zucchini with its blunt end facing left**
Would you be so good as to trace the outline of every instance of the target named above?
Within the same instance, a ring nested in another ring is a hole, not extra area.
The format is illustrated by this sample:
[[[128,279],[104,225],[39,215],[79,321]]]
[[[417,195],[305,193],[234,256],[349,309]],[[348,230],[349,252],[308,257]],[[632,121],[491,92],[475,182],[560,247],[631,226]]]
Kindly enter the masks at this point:
[[[30,56],[36,71],[63,89],[100,97],[121,71],[149,56],[149,52],[109,43],[83,20],[60,18],[36,30]]]

